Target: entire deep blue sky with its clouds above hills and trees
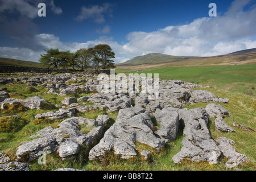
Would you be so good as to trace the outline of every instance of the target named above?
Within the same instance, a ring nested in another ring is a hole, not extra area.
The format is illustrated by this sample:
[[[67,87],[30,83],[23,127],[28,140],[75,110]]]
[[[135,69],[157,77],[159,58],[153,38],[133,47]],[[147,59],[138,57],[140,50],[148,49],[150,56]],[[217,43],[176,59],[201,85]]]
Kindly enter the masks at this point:
[[[46,4],[46,17],[38,4]],[[209,3],[217,16],[210,17]],[[0,0],[0,57],[109,44],[115,63],[147,53],[214,56],[256,47],[255,0]]]

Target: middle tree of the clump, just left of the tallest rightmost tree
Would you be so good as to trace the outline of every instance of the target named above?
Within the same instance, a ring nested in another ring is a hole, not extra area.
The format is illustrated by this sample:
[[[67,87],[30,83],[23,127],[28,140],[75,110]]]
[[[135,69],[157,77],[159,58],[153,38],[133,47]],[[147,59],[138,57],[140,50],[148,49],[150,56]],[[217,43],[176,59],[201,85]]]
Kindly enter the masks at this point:
[[[93,48],[82,48],[76,51],[77,54],[77,66],[84,71],[84,69],[87,69],[92,63],[93,58]]]

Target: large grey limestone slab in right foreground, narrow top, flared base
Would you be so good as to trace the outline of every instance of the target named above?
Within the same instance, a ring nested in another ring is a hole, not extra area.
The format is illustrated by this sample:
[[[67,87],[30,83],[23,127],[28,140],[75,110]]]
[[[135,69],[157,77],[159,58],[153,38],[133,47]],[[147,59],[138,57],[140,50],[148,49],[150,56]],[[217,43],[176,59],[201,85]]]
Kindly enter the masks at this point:
[[[175,154],[172,160],[180,163],[181,160],[188,158],[193,162],[205,160],[209,163],[217,164],[221,156],[221,151],[210,137],[208,130],[208,114],[205,109],[197,108],[191,110],[181,110],[180,120],[184,122],[182,140],[183,147],[180,152]]]

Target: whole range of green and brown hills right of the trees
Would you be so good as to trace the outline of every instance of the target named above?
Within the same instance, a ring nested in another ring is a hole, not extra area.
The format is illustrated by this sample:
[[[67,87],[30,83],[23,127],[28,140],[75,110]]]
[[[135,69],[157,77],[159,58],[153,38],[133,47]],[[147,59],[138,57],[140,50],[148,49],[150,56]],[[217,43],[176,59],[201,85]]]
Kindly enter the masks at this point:
[[[256,48],[232,52],[226,55],[210,57],[171,56],[160,53],[150,53],[137,56],[122,64],[116,64],[118,69],[148,69],[163,67],[189,67],[200,65],[246,65],[256,64]]]

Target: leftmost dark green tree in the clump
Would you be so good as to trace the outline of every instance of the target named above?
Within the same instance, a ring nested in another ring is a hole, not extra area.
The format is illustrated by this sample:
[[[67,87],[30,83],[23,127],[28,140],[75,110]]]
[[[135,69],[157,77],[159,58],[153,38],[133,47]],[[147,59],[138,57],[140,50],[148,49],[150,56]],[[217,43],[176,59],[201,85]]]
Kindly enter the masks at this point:
[[[45,54],[40,55],[40,63],[42,63],[44,66],[57,68],[60,65],[60,50],[57,49],[49,49],[46,51]]]

